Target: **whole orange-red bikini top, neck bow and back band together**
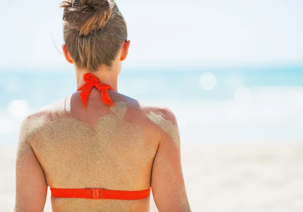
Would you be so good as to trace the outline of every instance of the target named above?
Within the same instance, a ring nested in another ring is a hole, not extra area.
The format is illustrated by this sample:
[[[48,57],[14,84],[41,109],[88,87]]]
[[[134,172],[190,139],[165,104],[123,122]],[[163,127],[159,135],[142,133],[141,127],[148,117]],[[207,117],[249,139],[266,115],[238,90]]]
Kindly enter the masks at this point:
[[[110,85],[103,84],[90,73],[83,75],[86,82],[78,91],[81,90],[80,98],[84,108],[88,100],[89,93],[93,87],[101,91],[101,99],[105,104],[114,105],[108,94],[108,89],[114,90]],[[120,200],[138,200],[144,199],[150,195],[150,188],[142,191],[116,191],[105,189],[65,189],[51,188],[52,197],[56,198],[85,198],[85,199],[120,199]]]

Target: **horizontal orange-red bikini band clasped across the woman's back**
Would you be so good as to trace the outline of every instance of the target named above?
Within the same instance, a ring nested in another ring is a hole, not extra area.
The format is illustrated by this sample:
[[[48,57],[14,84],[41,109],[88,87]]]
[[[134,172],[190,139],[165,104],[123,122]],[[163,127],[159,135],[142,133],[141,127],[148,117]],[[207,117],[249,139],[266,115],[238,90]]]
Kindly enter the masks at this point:
[[[150,195],[150,188],[143,191],[51,188],[51,192],[52,197],[56,198],[138,200],[148,197]]]

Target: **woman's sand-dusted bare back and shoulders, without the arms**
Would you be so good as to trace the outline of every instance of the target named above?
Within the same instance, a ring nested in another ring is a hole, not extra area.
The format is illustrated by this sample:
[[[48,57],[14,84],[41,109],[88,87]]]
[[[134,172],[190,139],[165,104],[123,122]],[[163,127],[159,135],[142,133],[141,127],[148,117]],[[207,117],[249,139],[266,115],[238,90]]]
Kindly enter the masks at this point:
[[[100,100],[93,89],[86,109],[79,92],[30,116],[23,123],[20,142],[30,141],[47,186],[144,190],[161,130],[179,148],[176,126],[157,115],[159,109],[110,92],[114,106]],[[149,211],[143,200],[53,198],[53,211]]]

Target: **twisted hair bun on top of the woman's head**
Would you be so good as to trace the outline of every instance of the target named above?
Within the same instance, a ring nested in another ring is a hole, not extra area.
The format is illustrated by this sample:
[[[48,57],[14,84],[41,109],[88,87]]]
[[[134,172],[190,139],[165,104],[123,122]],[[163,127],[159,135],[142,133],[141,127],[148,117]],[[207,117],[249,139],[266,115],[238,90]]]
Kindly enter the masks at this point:
[[[80,35],[105,27],[112,15],[108,0],[69,0],[61,3],[63,20]]]

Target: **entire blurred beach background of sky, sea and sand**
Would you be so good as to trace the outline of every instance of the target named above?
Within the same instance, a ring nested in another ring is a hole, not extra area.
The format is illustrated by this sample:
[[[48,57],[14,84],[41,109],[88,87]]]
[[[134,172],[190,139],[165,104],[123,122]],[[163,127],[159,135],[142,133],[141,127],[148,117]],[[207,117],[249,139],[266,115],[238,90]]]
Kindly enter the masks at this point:
[[[60,3],[0,3],[2,211],[22,119],[76,90]],[[303,211],[303,1],[117,4],[131,40],[119,92],[176,114],[192,210]]]

